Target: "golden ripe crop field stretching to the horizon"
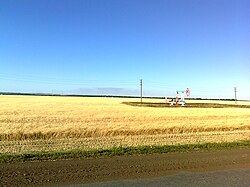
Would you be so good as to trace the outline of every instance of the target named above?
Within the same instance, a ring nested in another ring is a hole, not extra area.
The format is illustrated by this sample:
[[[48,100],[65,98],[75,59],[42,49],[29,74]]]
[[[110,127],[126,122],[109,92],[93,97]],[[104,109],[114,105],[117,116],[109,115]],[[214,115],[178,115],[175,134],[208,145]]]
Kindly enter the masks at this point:
[[[0,96],[0,153],[250,139],[250,108],[122,104],[130,101],[139,99]]]

